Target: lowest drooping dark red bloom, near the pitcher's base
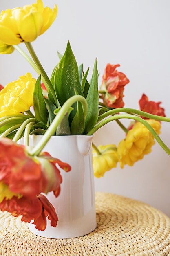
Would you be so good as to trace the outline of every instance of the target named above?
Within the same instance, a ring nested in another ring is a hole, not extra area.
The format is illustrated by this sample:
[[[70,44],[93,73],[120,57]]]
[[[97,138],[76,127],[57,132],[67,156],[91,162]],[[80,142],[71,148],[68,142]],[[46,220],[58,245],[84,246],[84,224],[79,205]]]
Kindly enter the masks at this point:
[[[54,207],[49,200],[42,194],[34,198],[13,197],[10,200],[4,199],[0,203],[1,211],[8,211],[14,217],[22,216],[21,220],[24,222],[31,222],[34,220],[35,227],[38,230],[46,228],[46,217],[51,220],[51,226],[56,227],[58,217]]]

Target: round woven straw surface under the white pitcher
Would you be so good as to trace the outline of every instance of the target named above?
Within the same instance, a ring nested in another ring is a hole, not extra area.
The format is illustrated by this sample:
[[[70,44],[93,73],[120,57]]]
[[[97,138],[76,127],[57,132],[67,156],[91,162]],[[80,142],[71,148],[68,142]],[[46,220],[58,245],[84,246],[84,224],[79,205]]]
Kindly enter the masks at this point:
[[[148,204],[96,193],[97,228],[86,236],[50,239],[32,234],[26,223],[0,212],[2,256],[170,255],[170,219]]]

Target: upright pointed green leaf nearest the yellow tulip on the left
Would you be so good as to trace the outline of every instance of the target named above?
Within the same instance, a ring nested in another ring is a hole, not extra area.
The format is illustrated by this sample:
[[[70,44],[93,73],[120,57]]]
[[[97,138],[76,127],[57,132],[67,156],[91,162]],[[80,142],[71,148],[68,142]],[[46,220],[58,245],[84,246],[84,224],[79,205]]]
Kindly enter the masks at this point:
[[[33,92],[33,102],[34,102],[35,118],[38,119],[38,121],[42,121],[44,122],[44,124],[46,124],[47,110],[46,110],[46,104],[44,102],[44,97],[42,94],[41,75],[38,77],[35,83],[35,89]]]

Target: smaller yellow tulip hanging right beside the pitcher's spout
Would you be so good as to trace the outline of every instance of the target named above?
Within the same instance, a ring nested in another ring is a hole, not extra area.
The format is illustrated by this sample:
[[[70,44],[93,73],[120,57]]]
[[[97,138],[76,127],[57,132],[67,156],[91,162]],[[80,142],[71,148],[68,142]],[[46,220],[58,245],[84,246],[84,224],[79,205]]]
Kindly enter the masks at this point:
[[[102,177],[106,171],[116,167],[119,161],[116,145],[100,145],[98,150],[101,154],[98,154],[95,150],[93,151],[93,169],[97,178]]]

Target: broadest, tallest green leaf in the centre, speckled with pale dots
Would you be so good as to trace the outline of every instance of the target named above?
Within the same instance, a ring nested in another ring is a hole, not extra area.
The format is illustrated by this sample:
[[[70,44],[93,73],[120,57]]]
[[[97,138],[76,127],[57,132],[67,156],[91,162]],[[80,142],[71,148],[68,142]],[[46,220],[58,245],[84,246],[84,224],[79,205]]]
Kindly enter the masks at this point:
[[[60,106],[67,99],[75,95],[74,89],[83,96],[82,87],[79,81],[79,71],[75,56],[68,42],[66,51],[62,56],[54,75],[54,87]],[[73,111],[70,114],[70,122],[77,112],[77,104],[73,104]]]

